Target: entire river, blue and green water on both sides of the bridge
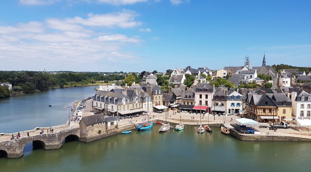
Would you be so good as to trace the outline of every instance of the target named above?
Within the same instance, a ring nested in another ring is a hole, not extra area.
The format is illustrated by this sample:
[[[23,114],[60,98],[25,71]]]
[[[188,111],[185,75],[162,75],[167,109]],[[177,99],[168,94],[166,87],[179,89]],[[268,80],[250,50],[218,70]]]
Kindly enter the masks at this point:
[[[43,91],[0,99],[0,132],[64,124],[73,102],[94,94],[94,87]],[[52,107],[48,105],[51,104]],[[239,141],[219,128],[199,135],[196,126],[182,131],[151,130],[118,134],[91,143],[64,143],[58,150],[32,150],[24,157],[0,158],[0,171],[309,171],[310,143]],[[276,156],[277,154],[277,156]]]

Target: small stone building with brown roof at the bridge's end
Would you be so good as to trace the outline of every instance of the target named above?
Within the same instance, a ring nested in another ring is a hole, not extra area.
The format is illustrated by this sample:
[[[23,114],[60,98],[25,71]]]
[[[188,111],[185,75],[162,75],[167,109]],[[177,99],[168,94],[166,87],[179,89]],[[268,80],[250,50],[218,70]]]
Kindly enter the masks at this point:
[[[104,117],[102,114],[82,117],[80,125],[80,141],[91,142],[107,136],[107,133],[117,126],[117,119]]]

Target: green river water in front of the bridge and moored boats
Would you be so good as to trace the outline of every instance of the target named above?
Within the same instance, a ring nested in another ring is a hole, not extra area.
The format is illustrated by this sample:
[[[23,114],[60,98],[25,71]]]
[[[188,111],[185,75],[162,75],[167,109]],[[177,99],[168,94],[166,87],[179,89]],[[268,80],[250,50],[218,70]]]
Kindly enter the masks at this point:
[[[219,128],[202,135],[196,126],[165,133],[159,128],[1,158],[0,171],[309,171],[310,143],[239,141]]]

